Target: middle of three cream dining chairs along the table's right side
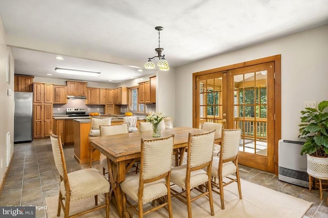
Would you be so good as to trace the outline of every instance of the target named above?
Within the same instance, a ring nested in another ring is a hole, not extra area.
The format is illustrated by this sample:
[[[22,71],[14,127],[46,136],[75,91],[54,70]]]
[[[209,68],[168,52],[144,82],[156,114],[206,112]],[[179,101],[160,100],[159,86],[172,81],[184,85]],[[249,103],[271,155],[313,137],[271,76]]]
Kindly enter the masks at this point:
[[[214,135],[215,130],[197,135],[189,133],[187,164],[171,170],[171,182],[182,189],[179,191],[172,188],[172,195],[187,205],[189,218],[192,217],[191,203],[204,196],[209,198],[211,215],[214,216],[211,186]],[[196,189],[200,194],[193,192],[197,195],[192,198],[192,189]]]

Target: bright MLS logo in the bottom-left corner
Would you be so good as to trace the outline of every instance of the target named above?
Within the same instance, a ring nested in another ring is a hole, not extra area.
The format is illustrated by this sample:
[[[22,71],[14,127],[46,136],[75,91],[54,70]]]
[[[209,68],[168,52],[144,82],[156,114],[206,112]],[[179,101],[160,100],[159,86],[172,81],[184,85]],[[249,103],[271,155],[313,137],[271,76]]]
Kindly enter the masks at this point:
[[[35,207],[0,207],[0,217],[35,218]]]

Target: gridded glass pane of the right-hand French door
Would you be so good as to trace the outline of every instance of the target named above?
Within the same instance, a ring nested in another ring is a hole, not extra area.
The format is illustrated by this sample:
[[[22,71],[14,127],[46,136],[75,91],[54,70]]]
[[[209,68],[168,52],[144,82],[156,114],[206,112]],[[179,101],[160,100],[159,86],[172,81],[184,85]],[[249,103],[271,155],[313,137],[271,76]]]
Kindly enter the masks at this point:
[[[267,71],[234,75],[234,125],[242,130],[239,150],[267,155]]]

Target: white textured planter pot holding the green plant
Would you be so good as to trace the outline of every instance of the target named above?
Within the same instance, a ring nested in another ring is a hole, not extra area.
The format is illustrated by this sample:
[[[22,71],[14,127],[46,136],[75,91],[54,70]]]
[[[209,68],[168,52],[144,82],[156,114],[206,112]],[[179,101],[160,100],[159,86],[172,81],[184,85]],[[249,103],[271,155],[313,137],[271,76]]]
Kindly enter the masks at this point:
[[[328,158],[318,158],[310,155],[308,157],[308,169],[310,176],[318,179],[328,180]]]

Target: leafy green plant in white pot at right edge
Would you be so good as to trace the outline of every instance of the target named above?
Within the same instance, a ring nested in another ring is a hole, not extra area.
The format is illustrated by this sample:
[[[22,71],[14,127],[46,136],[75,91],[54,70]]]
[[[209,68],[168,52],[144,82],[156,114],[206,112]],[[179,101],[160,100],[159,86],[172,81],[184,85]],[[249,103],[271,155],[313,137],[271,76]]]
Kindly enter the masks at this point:
[[[306,107],[301,114],[299,138],[305,140],[301,155],[307,155],[307,171],[310,176],[328,178],[328,101]]]

